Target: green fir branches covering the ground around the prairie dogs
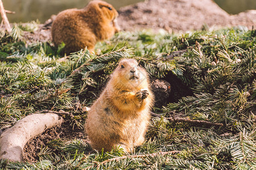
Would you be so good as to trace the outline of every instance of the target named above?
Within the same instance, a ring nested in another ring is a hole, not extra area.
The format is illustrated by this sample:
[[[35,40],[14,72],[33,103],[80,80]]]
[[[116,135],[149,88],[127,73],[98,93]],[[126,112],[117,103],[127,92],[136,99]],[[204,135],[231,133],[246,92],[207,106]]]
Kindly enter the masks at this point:
[[[35,25],[33,24],[33,28]],[[120,58],[135,58],[151,77],[171,83],[174,102],[154,108],[165,117],[222,123],[195,127],[152,118],[146,141],[133,154],[180,151],[174,155],[126,158],[102,169],[255,169],[256,168],[256,37],[244,27],[168,34],[120,32],[98,42],[96,54],[73,53],[65,62],[61,49],[47,43],[20,41],[23,27],[0,38],[0,127],[10,128],[28,114],[49,109],[67,111],[69,125],[82,128],[86,113]],[[30,30],[30,28],[26,28]],[[32,31],[32,28],[31,28]],[[76,71],[75,71],[76,70]],[[79,71],[77,71],[79,70]],[[182,88],[181,88],[182,86]],[[186,96],[183,91],[191,91]],[[47,143],[37,163],[0,162],[4,169],[96,169],[122,150],[88,154],[90,146],[63,139]],[[95,165],[93,167],[93,165]]]

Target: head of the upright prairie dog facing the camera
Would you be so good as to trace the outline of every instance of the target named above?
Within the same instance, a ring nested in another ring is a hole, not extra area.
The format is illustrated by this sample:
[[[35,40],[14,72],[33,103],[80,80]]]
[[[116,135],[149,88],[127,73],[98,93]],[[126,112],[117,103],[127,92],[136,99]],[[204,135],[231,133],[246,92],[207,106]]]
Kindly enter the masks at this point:
[[[113,78],[127,88],[147,87],[147,72],[135,59],[121,59],[114,70]]]

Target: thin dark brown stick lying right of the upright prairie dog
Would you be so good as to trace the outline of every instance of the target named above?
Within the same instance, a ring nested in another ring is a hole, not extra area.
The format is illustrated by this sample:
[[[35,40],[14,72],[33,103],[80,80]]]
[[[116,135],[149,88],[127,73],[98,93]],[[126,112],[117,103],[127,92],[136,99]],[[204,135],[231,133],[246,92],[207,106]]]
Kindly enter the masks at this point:
[[[150,112],[150,114],[153,117],[161,117],[160,115],[158,115],[156,113],[153,113],[153,112]],[[188,122],[188,123],[195,124],[195,125],[223,126],[223,124],[217,124],[217,123],[203,121],[203,120],[190,120],[189,118],[180,118],[180,117],[171,118],[171,117],[168,117],[166,119],[170,122]]]

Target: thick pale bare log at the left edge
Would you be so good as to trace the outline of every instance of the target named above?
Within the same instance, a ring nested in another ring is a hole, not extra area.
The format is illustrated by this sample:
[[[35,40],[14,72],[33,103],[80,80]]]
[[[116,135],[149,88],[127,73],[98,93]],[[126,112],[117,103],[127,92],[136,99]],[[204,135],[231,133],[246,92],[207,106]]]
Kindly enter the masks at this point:
[[[31,114],[3,131],[0,137],[0,159],[22,162],[22,150],[27,141],[60,125],[63,118],[54,113]]]

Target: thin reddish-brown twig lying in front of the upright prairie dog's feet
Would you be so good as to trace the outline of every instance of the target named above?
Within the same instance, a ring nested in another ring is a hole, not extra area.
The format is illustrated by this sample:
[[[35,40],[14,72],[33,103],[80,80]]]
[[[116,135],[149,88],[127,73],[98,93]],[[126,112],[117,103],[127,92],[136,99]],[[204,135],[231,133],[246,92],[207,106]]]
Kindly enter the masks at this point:
[[[100,169],[100,165],[104,165],[108,162],[112,162],[112,161],[118,161],[121,159],[137,159],[137,158],[145,158],[145,157],[155,157],[158,155],[172,155],[172,154],[176,154],[179,153],[180,151],[168,151],[168,152],[156,152],[153,154],[144,154],[144,155],[127,155],[127,156],[121,156],[121,157],[117,157],[117,158],[112,158],[112,159],[107,159],[104,160],[104,162],[98,163],[98,164],[94,164],[90,167],[86,167],[85,169],[90,169],[90,168],[94,168],[97,165],[97,169]]]

